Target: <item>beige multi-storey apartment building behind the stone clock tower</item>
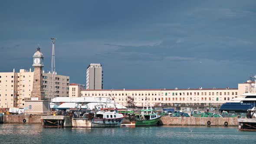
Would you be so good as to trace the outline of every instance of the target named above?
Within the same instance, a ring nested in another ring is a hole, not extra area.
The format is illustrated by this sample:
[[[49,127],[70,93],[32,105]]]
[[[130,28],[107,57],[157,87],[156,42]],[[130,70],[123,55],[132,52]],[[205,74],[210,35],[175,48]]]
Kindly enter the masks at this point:
[[[33,88],[33,72],[20,69],[20,72],[0,72],[0,108],[23,108],[25,98],[30,98]],[[43,89],[46,98],[50,95],[52,74],[43,72]],[[55,75],[54,97],[69,97],[69,76]]]

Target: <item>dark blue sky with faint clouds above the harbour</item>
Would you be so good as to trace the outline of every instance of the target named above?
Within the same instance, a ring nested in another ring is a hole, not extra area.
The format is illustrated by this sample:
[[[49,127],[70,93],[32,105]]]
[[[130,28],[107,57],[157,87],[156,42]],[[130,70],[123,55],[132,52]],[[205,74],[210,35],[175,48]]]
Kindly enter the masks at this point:
[[[237,88],[256,73],[255,0],[4,0],[0,72],[44,70],[85,84],[102,64],[104,89]]]

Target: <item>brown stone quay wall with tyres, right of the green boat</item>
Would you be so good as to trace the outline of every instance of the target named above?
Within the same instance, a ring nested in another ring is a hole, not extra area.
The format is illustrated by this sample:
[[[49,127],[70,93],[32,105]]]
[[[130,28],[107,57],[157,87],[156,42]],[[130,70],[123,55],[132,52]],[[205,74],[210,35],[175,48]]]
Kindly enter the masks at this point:
[[[187,126],[238,126],[237,118],[199,118],[199,117],[161,117],[163,125],[187,125]],[[208,124],[207,124],[208,122]]]

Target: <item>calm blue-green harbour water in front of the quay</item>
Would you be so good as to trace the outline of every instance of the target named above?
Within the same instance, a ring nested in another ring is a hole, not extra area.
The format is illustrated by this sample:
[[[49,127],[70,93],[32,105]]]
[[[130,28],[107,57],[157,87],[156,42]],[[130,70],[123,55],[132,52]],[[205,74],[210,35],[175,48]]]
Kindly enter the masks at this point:
[[[0,124],[0,144],[231,144],[255,143],[256,132],[237,127],[43,128],[41,124]]]

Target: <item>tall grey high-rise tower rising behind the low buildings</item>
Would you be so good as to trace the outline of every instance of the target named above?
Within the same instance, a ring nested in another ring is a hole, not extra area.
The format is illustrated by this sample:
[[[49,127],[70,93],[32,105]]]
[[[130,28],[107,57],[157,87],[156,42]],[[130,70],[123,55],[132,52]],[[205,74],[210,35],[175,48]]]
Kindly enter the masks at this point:
[[[103,71],[99,63],[91,63],[86,71],[86,89],[103,89]]]

